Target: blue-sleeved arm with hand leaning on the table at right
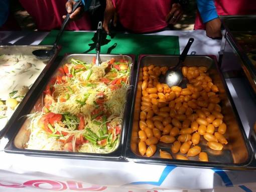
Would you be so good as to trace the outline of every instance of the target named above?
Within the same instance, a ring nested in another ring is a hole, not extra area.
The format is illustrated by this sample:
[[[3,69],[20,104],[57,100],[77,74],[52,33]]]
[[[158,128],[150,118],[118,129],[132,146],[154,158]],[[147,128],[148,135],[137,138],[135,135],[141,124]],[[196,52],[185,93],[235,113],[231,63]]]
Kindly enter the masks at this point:
[[[216,7],[213,0],[197,0],[197,8],[206,25],[206,35],[210,38],[220,38],[221,22],[218,18]]]

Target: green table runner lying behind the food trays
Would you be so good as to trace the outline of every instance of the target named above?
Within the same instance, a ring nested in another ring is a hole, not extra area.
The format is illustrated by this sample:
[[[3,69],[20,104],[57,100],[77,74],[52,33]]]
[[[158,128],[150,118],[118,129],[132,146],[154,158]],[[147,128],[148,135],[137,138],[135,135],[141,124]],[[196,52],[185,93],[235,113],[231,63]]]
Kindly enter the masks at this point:
[[[41,45],[53,45],[58,31],[51,31],[41,42]],[[62,50],[65,53],[96,53],[95,33],[65,31],[60,40]],[[179,37],[139,35],[139,34],[115,34],[112,37],[102,35],[101,54],[168,54],[179,55]]]

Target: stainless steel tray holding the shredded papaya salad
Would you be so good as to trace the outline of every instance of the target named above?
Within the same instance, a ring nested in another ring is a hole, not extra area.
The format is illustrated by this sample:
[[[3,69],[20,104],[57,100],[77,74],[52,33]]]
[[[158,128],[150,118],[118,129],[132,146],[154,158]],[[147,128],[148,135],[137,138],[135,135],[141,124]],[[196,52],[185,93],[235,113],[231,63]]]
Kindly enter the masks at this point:
[[[67,55],[62,59],[62,61],[56,66],[57,70],[60,66],[63,66],[64,64],[68,63],[71,58],[82,60],[85,62],[90,63],[92,61],[92,58],[95,55],[91,54],[72,54],[72,55]],[[100,58],[102,61],[110,60],[111,58],[115,58],[117,61],[120,59],[125,59],[130,61],[132,64],[131,66],[131,74],[130,74],[130,85],[133,85],[132,80],[134,76],[134,56],[128,56],[128,55],[100,55]],[[47,83],[49,82],[50,78],[52,78],[57,70],[55,72],[52,72],[51,75],[49,76],[48,80],[46,80],[42,87],[40,87],[40,91],[38,93],[35,93],[32,95],[34,96],[34,99],[31,99],[30,102],[30,107],[24,108],[21,116],[33,113],[36,111],[38,108],[40,108],[41,101],[43,98],[43,90]],[[81,152],[65,152],[65,151],[46,151],[46,150],[31,150],[31,149],[25,149],[24,146],[29,140],[30,136],[30,131],[27,129],[27,125],[29,124],[28,118],[21,118],[21,119],[16,119],[16,122],[12,125],[11,129],[13,130],[18,130],[18,132],[11,136],[11,140],[7,144],[5,151],[6,152],[12,152],[12,153],[22,153],[22,154],[29,154],[29,155],[37,155],[37,156],[54,156],[54,157],[66,157],[66,158],[87,158],[87,159],[96,159],[96,160],[120,160],[121,157],[121,151],[123,147],[123,142],[124,142],[124,134],[125,134],[125,129],[127,128],[127,125],[129,124],[129,117],[130,111],[131,111],[131,96],[133,94],[134,89],[130,89],[127,92],[126,95],[126,105],[125,105],[125,112],[124,112],[124,117],[123,117],[123,125],[121,128],[121,137],[120,137],[120,142],[118,147],[116,148],[115,151],[111,153],[81,153]]]

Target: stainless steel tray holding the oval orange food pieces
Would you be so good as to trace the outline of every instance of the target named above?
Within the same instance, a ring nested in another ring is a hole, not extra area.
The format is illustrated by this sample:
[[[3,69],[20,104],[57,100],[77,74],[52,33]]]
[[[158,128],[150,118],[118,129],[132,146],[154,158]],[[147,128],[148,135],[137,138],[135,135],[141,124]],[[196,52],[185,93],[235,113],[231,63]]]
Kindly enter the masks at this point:
[[[134,93],[133,114],[129,134],[127,136],[125,159],[135,162],[154,163],[154,164],[169,164],[181,166],[195,166],[195,167],[219,167],[225,169],[244,169],[252,165],[252,150],[249,146],[248,139],[242,128],[237,111],[232,102],[230,93],[227,89],[226,83],[217,67],[216,58],[214,56],[187,56],[185,66],[204,66],[208,68],[208,72],[213,82],[219,88],[219,96],[221,98],[222,113],[224,115],[224,122],[227,124],[227,132],[225,136],[228,144],[224,146],[222,151],[214,151],[207,147],[206,141],[201,137],[199,146],[202,151],[208,153],[209,162],[197,161],[197,157],[190,158],[192,160],[176,160],[176,159],[161,159],[156,153],[152,157],[142,156],[138,147],[138,131],[140,120],[140,102],[141,91],[138,91],[139,76],[142,73],[144,66],[154,64],[155,66],[174,66],[178,62],[178,56],[141,56],[139,59],[138,74],[136,81],[136,91]],[[142,75],[142,74],[141,74]],[[171,144],[159,143],[157,151],[161,148],[170,152]],[[179,154],[179,153],[178,153]],[[176,155],[173,155],[176,156]],[[252,166],[253,167],[253,166]],[[255,164],[254,164],[254,167]]]

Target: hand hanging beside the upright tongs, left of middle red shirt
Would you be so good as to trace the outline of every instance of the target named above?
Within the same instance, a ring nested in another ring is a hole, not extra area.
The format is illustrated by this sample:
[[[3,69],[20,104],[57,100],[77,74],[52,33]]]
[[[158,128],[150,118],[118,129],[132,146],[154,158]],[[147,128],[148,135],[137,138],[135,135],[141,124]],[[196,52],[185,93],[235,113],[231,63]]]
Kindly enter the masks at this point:
[[[111,20],[113,22],[113,26],[116,27],[117,13],[112,4],[112,0],[106,0],[106,8],[105,8],[105,12],[104,12],[104,21],[103,21],[102,27],[106,31],[107,34],[109,34],[108,25]]]

